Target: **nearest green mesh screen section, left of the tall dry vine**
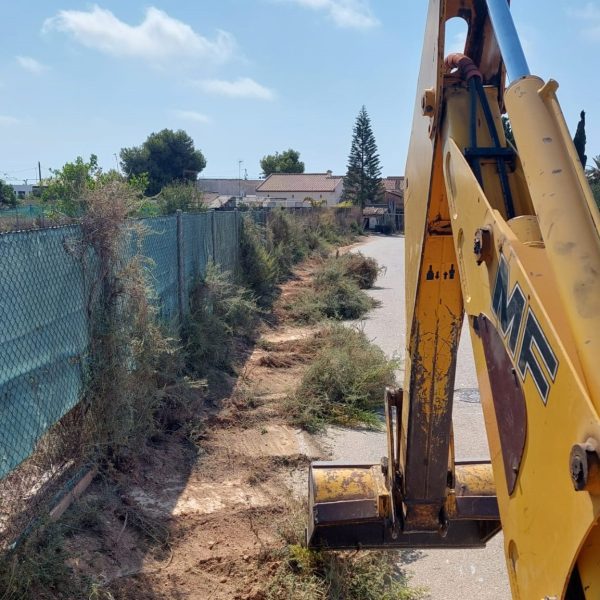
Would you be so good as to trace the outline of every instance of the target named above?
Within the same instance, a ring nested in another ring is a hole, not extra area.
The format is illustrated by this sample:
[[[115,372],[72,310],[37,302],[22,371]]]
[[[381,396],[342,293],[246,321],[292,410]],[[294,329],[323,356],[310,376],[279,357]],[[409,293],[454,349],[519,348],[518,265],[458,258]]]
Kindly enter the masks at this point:
[[[81,395],[90,273],[78,240],[78,227],[0,236],[0,477]]]

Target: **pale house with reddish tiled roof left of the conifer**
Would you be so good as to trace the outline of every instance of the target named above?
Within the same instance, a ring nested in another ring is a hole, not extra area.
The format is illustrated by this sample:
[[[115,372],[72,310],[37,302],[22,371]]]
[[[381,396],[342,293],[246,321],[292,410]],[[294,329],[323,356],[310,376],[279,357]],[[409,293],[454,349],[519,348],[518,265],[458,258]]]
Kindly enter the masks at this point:
[[[342,198],[344,178],[327,173],[273,173],[256,188],[264,206],[335,206]]]

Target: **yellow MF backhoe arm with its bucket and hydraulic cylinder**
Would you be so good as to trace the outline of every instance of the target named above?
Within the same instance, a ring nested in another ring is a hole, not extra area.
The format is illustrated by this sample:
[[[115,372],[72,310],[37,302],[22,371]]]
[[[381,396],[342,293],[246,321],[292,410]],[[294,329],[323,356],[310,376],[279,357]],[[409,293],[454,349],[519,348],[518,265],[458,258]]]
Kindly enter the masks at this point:
[[[444,56],[454,17],[464,54]],[[381,464],[311,466],[311,546],[478,547],[502,529],[514,598],[600,598],[600,216],[557,88],[529,73],[507,0],[430,0],[404,387],[385,394]],[[465,315],[490,462],[454,459]]]

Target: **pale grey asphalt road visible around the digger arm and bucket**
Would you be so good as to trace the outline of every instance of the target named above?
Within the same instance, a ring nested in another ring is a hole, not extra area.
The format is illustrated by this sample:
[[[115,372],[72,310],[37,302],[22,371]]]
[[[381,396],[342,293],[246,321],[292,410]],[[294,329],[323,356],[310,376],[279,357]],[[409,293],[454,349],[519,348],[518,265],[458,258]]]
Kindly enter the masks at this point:
[[[402,360],[406,339],[404,238],[375,236],[358,250],[385,267],[370,292],[381,305],[362,326],[388,356]],[[489,458],[466,329],[459,347],[453,423],[457,458]],[[328,439],[334,460],[376,463],[386,453],[385,436],[380,432],[331,429]],[[412,584],[428,588],[431,600],[508,600],[510,587],[502,544],[499,534],[484,549],[406,552],[403,562],[412,574]]]

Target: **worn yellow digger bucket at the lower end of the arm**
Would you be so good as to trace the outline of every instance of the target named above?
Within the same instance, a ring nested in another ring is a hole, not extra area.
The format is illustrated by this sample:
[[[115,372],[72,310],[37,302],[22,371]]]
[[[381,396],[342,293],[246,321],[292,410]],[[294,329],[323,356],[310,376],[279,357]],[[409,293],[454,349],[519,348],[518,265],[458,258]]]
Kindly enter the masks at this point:
[[[396,425],[401,408],[402,392],[386,390],[388,457],[380,464],[311,464],[307,527],[310,547],[481,547],[500,530],[493,473],[487,461],[457,462],[434,527],[407,528]]]

